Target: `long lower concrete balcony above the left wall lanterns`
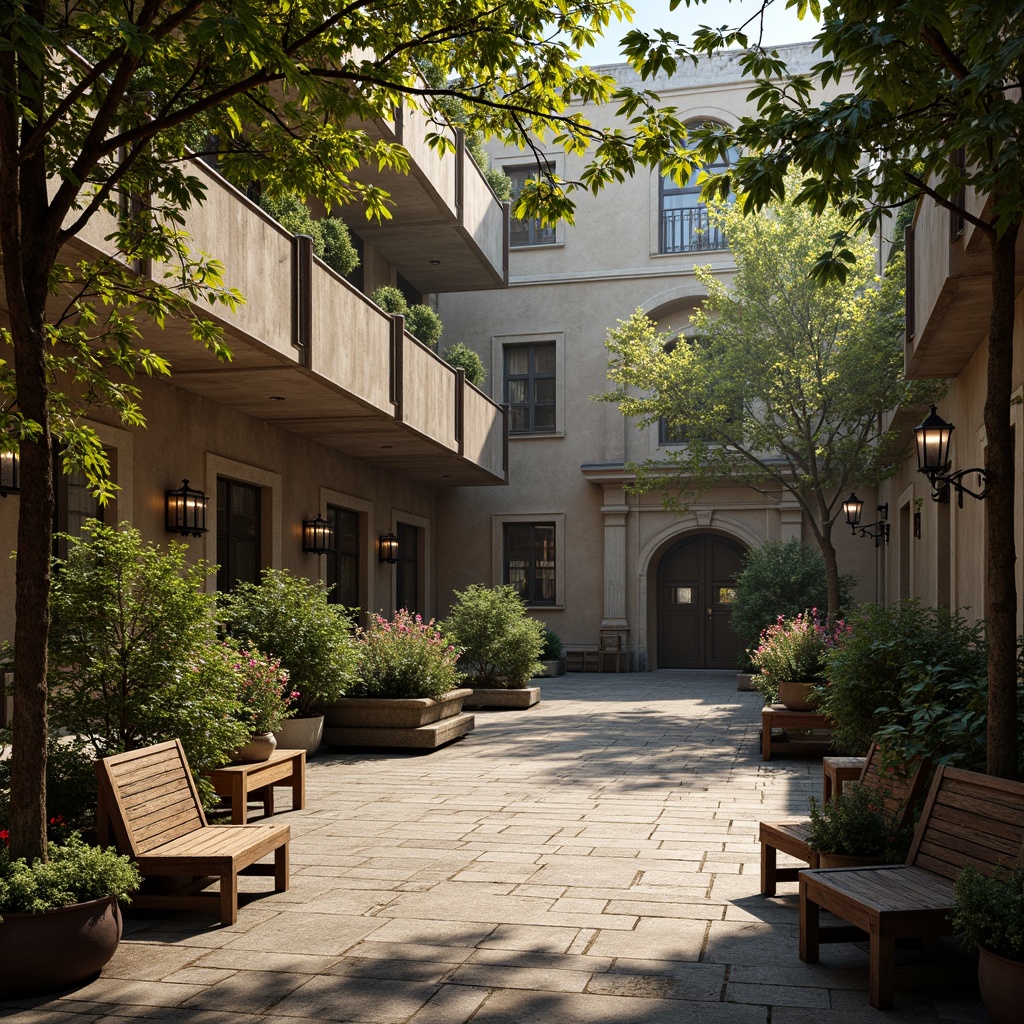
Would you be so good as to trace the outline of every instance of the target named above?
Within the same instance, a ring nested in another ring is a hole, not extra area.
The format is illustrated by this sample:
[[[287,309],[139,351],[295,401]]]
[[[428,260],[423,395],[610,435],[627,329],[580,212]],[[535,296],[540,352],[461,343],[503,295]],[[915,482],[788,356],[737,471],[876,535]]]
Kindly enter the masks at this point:
[[[186,324],[146,332],[145,344],[170,359],[174,386],[435,486],[506,482],[502,407],[316,259],[305,240],[215,171],[194,171],[207,200],[188,212],[184,230],[224,264],[226,284],[246,302],[233,313],[200,310],[224,327],[227,364],[193,341]],[[76,248],[109,251],[110,226],[97,218]]]

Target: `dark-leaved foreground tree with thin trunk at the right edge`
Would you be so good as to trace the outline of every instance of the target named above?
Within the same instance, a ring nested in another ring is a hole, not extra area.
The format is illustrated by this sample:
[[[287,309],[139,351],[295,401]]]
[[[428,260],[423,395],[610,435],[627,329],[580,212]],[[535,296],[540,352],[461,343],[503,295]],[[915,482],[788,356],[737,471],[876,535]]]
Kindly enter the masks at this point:
[[[672,0],[673,8],[680,0]],[[687,6],[699,0],[686,0]],[[786,0],[806,9],[808,0]],[[810,3],[817,8],[817,0]],[[988,483],[988,770],[1014,777],[1017,669],[1014,479],[1010,402],[1016,245],[1024,219],[1024,7],[1016,0],[835,0],[820,7],[821,61],[787,79],[777,54],[752,47],[741,58],[757,80],[759,113],[736,127],[702,132],[706,155],[739,146],[738,166],[709,189],[739,187],[749,209],[802,176],[797,200],[815,212],[834,203],[862,226],[881,225],[894,207],[928,197],[973,224],[991,256],[991,312],[984,424]],[[815,13],[817,10],[815,9]],[[745,36],[701,30],[683,44],[674,33],[631,33],[627,52],[643,74],[672,70]],[[849,82],[816,101],[816,85]],[[987,197],[981,211],[965,202]],[[849,266],[837,237],[818,271]]]

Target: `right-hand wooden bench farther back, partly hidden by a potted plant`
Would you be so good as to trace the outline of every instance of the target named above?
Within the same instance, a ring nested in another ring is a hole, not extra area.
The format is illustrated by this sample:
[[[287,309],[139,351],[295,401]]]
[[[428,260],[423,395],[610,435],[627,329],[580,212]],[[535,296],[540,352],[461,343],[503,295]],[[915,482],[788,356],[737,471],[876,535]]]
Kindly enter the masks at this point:
[[[927,771],[919,763],[910,772],[886,773],[882,766],[882,751],[874,743],[863,762],[859,784],[883,795],[888,810],[900,825],[913,820],[913,813],[927,781]],[[779,882],[796,882],[803,867],[778,867],[778,851],[802,860],[810,867],[818,866],[817,854],[810,847],[811,822],[762,821],[758,830],[761,840],[761,893],[774,896]]]

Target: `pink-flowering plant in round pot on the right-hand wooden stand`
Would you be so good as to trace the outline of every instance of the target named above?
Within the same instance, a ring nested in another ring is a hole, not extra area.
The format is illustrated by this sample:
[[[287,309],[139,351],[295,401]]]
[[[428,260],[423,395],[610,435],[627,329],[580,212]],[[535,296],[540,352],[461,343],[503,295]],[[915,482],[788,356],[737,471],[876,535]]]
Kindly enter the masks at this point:
[[[761,634],[751,660],[759,673],[754,685],[766,703],[783,703],[791,711],[813,711],[814,688],[824,681],[825,655],[845,634],[845,624],[818,618],[818,609],[778,621]]]

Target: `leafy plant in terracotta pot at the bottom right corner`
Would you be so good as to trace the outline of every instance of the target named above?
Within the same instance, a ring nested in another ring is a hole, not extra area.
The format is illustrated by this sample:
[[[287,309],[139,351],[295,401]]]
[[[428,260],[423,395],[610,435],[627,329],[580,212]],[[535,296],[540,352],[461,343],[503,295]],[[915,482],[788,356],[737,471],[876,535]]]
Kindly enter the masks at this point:
[[[995,1024],[1016,1024],[1024,1006],[1024,868],[995,878],[968,865],[953,891],[953,931],[978,947],[978,987]]]

